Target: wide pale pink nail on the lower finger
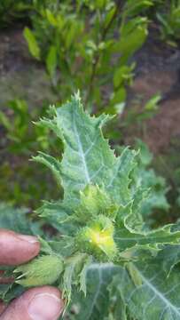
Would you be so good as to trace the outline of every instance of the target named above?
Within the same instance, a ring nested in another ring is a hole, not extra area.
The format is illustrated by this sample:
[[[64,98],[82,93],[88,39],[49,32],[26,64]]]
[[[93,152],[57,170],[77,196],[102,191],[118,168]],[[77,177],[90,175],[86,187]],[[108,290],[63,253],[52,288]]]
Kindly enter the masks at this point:
[[[62,301],[54,294],[40,293],[30,301],[27,311],[32,320],[56,320],[62,309]]]

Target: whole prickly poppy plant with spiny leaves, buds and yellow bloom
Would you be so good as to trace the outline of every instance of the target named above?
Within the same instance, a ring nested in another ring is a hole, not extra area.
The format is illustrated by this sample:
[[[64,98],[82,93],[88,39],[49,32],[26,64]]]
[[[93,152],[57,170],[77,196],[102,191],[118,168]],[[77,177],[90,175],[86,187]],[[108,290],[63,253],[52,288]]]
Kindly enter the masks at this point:
[[[63,188],[62,198],[37,210],[57,233],[41,234],[40,256],[13,270],[15,284],[4,286],[1,296],[53,284],[70,319],[180,319],[179,224],[145,224],[142,206],[151,190],[139,182],[138,152],[122,148],[115,155],[102,132],[109,120],[85,112],[78,93],[41,119],[38,125],[64,146],[59,158],[41,152],[34,158]]]

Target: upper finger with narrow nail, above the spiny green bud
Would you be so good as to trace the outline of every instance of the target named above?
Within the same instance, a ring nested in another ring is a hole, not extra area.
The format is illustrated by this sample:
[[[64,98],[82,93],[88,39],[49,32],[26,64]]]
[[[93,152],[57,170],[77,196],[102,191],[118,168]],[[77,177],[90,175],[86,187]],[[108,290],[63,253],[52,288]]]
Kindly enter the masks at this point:
[[[13,266],[34,258],[40,250],[35,236],[0,229],[0,265]]]

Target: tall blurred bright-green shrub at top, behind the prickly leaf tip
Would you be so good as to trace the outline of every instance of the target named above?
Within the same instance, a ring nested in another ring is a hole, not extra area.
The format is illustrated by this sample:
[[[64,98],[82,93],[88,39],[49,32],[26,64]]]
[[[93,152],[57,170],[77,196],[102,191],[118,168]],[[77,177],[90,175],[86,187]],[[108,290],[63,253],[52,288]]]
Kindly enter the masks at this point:
[[[44,62],[60,101],[80,89],[93,112],[118,113],[132,83],[134,53],[145,43],[153,1],[35,2],[28,48]]]

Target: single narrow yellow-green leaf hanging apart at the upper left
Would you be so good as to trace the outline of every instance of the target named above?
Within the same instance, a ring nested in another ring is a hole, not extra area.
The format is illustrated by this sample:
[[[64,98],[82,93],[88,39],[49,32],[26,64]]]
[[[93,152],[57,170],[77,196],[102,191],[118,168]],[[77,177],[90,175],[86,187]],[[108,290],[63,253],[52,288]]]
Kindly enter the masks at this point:
[[[41,51],[40,51],[40,47],[38,46],[38,44],[36,42],[36,39],[35,39],[33,32],[29,28],[26,27],[24,29],[23,35],[24,35],[25,39],[27,40],[29,52],[31,52],[31,54],[33,55],[33,57],[35,57],[35,59],[40,60]]]

